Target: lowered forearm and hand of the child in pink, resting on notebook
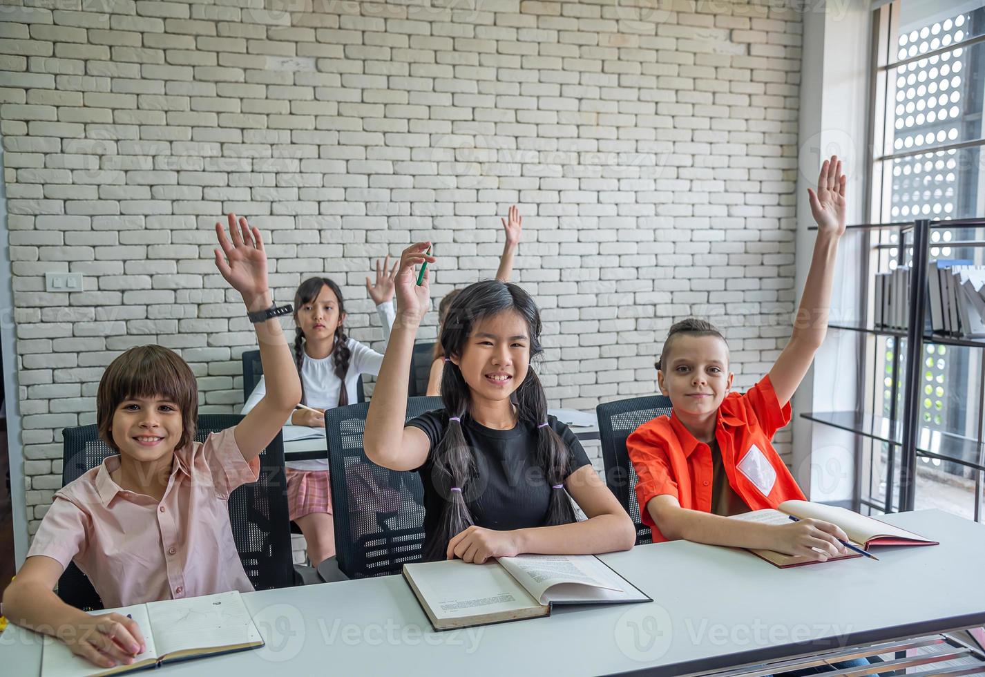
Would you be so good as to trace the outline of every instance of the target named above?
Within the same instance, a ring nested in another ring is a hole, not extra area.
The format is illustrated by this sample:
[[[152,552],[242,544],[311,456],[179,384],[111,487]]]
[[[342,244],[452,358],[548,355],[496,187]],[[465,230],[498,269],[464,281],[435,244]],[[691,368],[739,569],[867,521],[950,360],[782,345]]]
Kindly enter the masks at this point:
[[[53,592],[63,571],[53,558],[29,557],[4,591],[4,614],[19,626],[58,638],[99,667],[132,663],[147,648],[137,623],[121,614],[90,615],[63,602]]]

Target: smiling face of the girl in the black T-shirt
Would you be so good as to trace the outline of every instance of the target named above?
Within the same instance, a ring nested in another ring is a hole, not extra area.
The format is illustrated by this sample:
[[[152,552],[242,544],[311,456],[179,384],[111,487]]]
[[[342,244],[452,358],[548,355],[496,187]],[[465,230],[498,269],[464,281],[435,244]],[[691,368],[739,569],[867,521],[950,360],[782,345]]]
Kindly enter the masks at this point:
[[[460,355],[450,356],[473,398],[504,400],[520,387],[530,369],[530,330],[516,310],[477,320]]]

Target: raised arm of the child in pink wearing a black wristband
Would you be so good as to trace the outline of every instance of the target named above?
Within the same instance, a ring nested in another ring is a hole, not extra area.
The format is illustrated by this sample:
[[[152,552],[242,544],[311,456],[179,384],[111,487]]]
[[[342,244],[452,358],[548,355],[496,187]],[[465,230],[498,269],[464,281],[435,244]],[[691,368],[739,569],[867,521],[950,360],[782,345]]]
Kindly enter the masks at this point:
[[[222,250],[216,249],[216,267],[239,292],[247,312],[266,310],[274,301],[267,286],[267,252],[260,231],[250,228],[244,218],[237,222],[235,214],[230,214],[229,219],[230,237],[222,224],[216,224],[216,236],[222,246]],[[253,326],[267,391],[235,429],[236,446],[247,461],[259,456],[277,437],[301,400],[300,379],[280,321],[271,317]]]

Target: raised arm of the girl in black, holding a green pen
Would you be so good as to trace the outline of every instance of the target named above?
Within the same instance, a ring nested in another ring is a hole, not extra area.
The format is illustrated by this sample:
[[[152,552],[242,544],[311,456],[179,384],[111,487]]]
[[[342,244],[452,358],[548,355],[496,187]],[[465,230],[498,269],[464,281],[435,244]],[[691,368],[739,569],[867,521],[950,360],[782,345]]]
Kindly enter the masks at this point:
[[[429,271],[418,286],[414,266],[433,263],[428,255],[430,242],[418,242],[404,249],[397,272],[397,318],[390,332],[390,341],[383,356],[383,365],[376,376],[376,387],[366,414],[362,448],[366,457],[377,465],[391,470],[413,470],[427,460],[430,441],[424,431],[405,428],[407,416],[408,381],[414,339],[427,312],[430,287]]]

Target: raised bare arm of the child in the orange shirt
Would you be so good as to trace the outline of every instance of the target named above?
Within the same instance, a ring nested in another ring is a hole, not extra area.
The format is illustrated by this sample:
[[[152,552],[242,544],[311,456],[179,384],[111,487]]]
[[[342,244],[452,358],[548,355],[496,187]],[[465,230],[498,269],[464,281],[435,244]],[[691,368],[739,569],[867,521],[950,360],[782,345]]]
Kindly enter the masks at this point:
[[[769,371],[769,380],[781,408],[790,401],[811,369],[814,354],[821,348],[827,332],[834,260],[838,239],[845,232],[845,175],[841,173],[841,162],[836,156],[831,156],[821,166],[818,192],[810,188],[807,190],[811,198],[811,212],[818,222],[818,239],[814,244],[814,256],[807,282],[804,283],[801,305],[794,318],[793,334]]]

